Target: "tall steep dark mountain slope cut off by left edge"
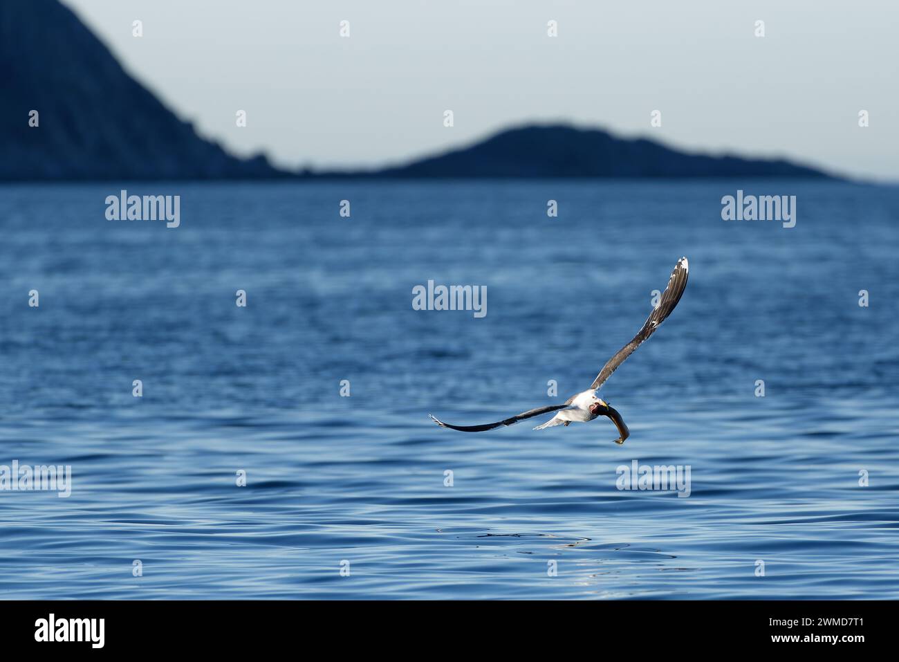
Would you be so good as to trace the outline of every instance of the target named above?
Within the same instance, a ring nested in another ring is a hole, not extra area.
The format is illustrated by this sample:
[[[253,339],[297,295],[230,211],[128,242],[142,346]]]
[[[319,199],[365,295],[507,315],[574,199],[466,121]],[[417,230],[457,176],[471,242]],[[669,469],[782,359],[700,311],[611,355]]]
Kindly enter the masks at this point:
[[[0,180],[282,176],[201,139],[58,0],[0,2],[0,71]]]

